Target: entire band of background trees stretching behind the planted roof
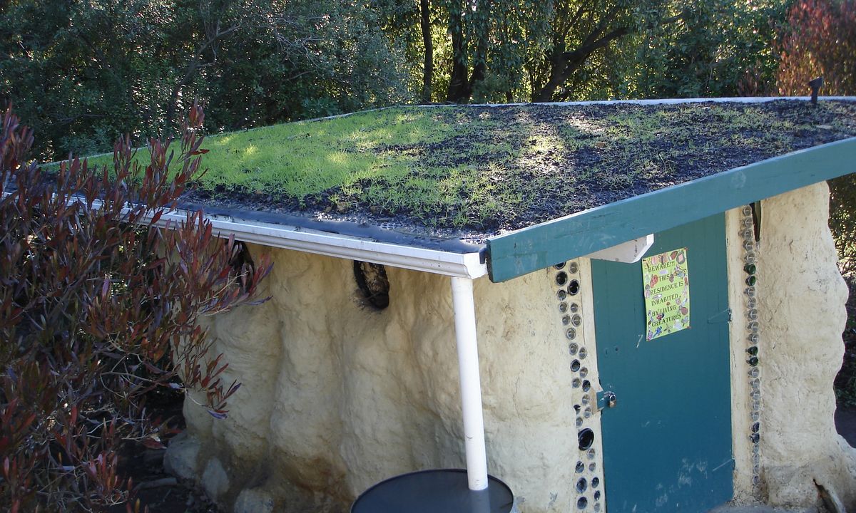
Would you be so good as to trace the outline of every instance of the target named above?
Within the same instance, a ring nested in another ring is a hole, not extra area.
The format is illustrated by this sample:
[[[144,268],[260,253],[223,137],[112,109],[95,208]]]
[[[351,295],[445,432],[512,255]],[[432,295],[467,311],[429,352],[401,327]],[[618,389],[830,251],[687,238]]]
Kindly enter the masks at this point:
[[[0,100],[56,160],[172,132],[197,97],[221,132],[390,103],[805,94],[787,70],[813,12],[853,0],[6,0]],[[823,69],[841,51],[810,71],[845,92],[853,67]]]

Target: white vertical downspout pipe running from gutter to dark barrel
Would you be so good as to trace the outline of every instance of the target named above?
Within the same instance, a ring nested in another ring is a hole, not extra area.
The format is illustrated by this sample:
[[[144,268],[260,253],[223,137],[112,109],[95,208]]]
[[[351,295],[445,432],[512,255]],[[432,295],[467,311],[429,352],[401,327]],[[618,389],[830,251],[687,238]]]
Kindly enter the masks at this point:
[[[464,416],[464,449],[470,490],[487,488],[487,453],[484,449],[484,416],[479,378],[479,346],[476,343],[476,309],[473,280],[452,276],[455,308],[455,340],[461,374],[461,406]]]

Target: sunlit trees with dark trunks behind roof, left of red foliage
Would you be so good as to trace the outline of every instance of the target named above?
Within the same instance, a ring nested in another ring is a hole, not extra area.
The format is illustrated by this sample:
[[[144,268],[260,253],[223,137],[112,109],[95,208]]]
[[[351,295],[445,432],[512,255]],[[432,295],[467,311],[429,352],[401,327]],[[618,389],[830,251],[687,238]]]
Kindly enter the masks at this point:
[[[443,0],[431,6],[446,38],[437,41],[435,32],[432,44],[421,46],[433,99],[508,102],[760,89],[744,82],[770,88],[771,42],[786,3]],[[426,25],[419,26],[423,33]],[[404,27],[416,30],[417,23]],[[443,51],[439,66],[432,62],[436,50]]]

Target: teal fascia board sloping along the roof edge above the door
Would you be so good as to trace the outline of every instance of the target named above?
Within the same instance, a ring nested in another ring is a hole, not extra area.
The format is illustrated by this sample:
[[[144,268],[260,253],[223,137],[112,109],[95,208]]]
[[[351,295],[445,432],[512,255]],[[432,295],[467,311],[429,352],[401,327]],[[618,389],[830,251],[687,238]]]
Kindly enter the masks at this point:
[[[488,239],[488,273],[507,281],[649,233],[856,172],[856,138],[822,144]]]

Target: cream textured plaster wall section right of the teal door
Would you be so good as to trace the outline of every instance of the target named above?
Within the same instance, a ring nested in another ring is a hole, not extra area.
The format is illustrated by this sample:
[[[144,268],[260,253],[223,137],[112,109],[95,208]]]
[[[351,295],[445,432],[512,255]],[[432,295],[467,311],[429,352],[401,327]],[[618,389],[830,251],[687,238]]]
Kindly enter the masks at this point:
[[[762,203],[758,314],[767,498],[856,510],[856,451],[835,432],[847,286],[835,266],[825,183]],[[746,429],[743,433],[746,435]]]

